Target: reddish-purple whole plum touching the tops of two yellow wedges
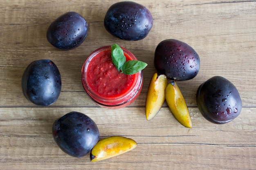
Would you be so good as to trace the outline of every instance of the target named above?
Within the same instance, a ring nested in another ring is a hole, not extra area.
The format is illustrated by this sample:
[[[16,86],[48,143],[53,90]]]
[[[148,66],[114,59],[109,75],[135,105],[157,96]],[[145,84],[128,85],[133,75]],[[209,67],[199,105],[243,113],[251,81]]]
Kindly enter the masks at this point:
[[[154,65],[158,73],[168,79],[185,81],[193,79],[200,68],[200,57],[188,44],[167,39],[155,49]]]

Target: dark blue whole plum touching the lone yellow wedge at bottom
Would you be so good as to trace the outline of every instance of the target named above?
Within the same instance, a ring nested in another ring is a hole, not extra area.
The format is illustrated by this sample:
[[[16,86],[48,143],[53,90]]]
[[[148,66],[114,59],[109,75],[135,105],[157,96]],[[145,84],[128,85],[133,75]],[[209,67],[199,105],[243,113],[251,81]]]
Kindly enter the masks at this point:
[[[52,125],[56,144],[72,157],[83,157],[99,141],[99,129],[87,115],[70,112],[57,119]]]

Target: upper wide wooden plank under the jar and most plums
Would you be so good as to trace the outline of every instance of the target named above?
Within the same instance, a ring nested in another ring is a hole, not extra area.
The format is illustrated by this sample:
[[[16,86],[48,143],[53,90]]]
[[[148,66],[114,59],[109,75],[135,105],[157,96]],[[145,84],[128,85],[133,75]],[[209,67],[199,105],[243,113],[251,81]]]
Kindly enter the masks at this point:
[[[88,37],[79,48],[71,51],[59,51],[45,38],[50,22],[61,11],[67,11],[67,7],[64,8],[64,6],[70,3],[64,2],[57,5],[57,2],[53,2],[52,7],[46,6],[49,9],[47,9],[48,13],[45,13],[34,2],[36,1],[31,2],[32,4],[28,2],[24,4],[29,5],[28,7],[34,13],[22,13],[25,11],[22,6],[16,7],[11,4],[9,8],[4,9],[6,19],[2,19],[0,25],[4,36],[4,41],[0,42],[4,47],[0,51],[2,59],[0,60],[0,77],[4,82],[0,84],[0,93],[5,97],[1,100],[0,106],[33,106],[22,97],[21,76],[30,62],[45,58],[55,62],[62,76],[63,95],[56,105],[73,106],[72,101],[76,100],[85,101],[78,103],[78,106],[87,106],[85,103],[88,102],[92,105],[88,99],[83,98],[82,94],[73,95],[70,92],[83,91],[81,67],[86,57],[94,49],[116,42],[132,51],[139,60],[148,63],[148,67],[144,70],[142,96],[137,102],[139,104],[134,105],[143,106],[150,78],[155,72],[153,66],[155,47],[168,38],[190,44],[200,55],[201,66],[197,77],[179,82],[188,106],[196,106],[195,93],[198,86],[214,75],[226,77],[233,82],[241,93],[245,106],[255,106],[256,67],[254,63],[256,63],[256,57],[252,57],[256,55],[255,2],[212,3],[206,1],[201,4],[194,1],[183,2],[183,4],[147,2],[145,5],[154,16],[154,27],[144,40],[137,42],[122,41],[109,35],[103,27],[103,20],[100,20],[100,18],[103,19],[104,13],[96,15],[99,10],[106,11],[106,7],[101,6],[99,2],[95,5],[89,3],[90,5],[85,9],[90,10],[77,10],[85,18],[88,16]],[[91,16],[92,14],[95,18]],[[19,15],[18,18],[17,15]],[[67,100],[71,102],[66,102]]]

